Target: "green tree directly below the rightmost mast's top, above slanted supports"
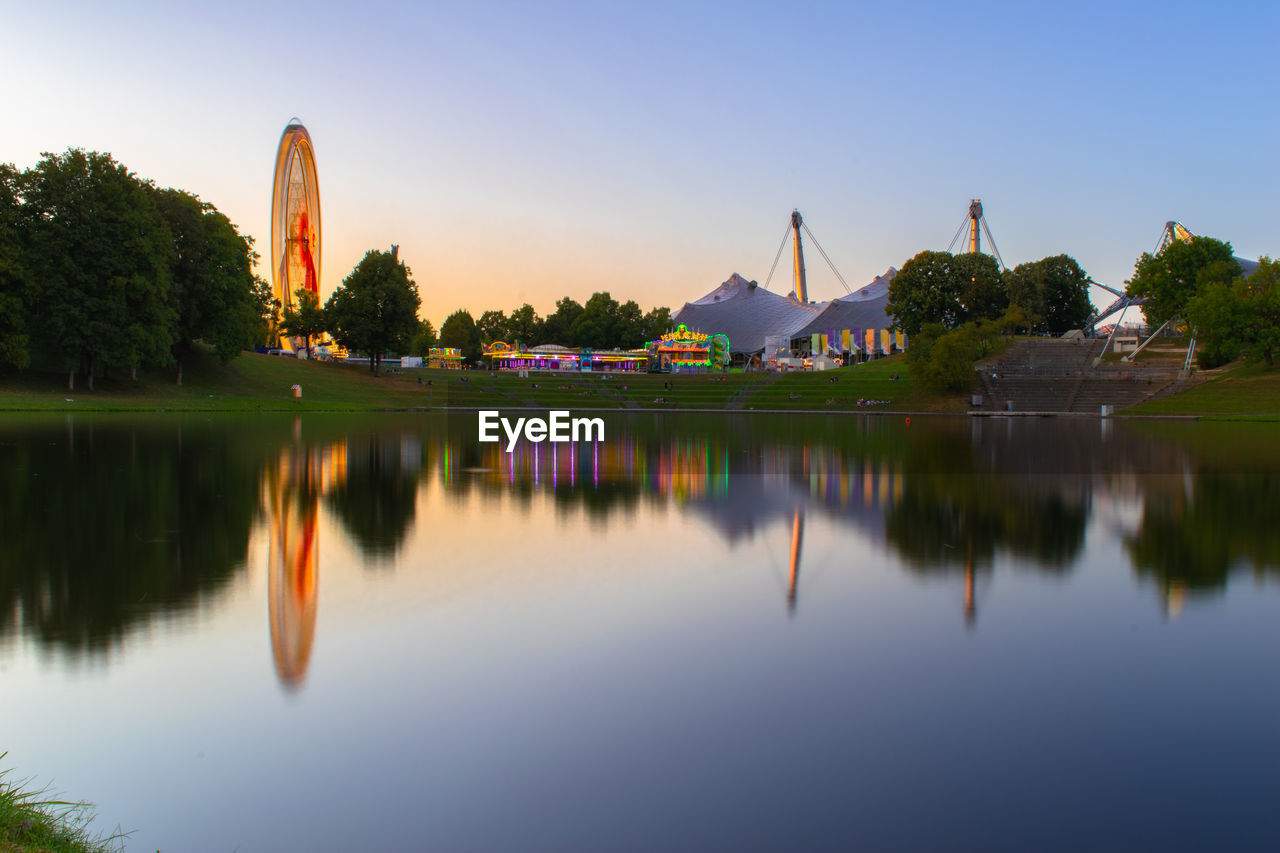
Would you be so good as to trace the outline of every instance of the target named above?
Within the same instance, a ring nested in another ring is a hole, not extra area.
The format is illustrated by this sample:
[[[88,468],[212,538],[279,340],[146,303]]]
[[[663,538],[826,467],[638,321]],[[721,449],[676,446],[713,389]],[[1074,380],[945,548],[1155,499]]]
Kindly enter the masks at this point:
[[[1153,325],[1180,314],[1202,284],[1230,282],[1240,274],[1231,243],[1212,237],[1175,240],[1158,254],[1143,252],[1133,266],[1125,293],[1146,297],[1143,314]]]

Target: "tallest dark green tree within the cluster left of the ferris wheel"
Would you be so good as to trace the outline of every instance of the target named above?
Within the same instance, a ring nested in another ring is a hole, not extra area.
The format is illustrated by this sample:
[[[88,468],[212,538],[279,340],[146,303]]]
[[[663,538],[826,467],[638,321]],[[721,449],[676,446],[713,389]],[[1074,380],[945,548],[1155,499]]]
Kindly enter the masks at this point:
[[[151,192],[109,154],[46,154],[24,174],[33,337],[68,371],[165,364],[177,336],[169,229]]]

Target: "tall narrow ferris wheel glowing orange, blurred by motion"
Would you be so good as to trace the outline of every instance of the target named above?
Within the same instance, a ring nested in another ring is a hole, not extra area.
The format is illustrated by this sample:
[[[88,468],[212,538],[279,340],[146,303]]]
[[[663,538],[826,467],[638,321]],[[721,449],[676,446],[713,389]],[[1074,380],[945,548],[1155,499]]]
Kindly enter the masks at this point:
[[[282,307],[305,287],[320,298],[320,184],[311,134],[291,119],[275,155],[271,190],[271,292]]]

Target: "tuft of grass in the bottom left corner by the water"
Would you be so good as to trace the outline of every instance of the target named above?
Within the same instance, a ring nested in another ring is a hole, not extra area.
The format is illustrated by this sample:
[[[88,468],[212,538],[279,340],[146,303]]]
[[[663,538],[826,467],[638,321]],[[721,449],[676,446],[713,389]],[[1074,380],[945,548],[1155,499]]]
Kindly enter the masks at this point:
[[[4,753],[0,753],[0,758]],[[123,849],[123,838],[93,838],[86,829],[86,803],[47,799],[47,792],[24,790],[0,771],[0,853],[106,853]]]

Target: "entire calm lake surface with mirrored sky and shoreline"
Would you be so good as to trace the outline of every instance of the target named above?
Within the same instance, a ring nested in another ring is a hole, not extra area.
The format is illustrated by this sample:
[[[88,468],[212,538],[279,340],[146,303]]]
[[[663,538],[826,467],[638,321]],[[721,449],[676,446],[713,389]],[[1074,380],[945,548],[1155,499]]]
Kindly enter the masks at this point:
[[[0,751],[131,850],[1275,849],[1280,429],[0,420]]]

